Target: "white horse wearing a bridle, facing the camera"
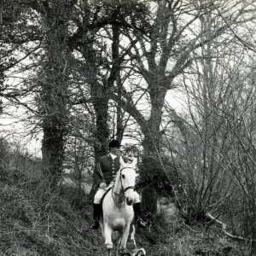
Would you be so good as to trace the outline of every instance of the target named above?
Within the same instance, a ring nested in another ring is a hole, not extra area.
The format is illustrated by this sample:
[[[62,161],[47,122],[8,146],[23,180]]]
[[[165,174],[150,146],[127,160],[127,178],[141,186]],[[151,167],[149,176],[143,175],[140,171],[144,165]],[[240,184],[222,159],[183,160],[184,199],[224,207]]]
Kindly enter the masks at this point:
[[[113,188],[108,191],[102,202],[103,214],[100,224],[108,256],[111,255],[113,248],[114,256],[118,255],[119,250],[120,253],[125,252],[130,224],[134,216],[132,204],[137,176],[135,166],[131,165],[125,165],[120,158],[120,169]]]

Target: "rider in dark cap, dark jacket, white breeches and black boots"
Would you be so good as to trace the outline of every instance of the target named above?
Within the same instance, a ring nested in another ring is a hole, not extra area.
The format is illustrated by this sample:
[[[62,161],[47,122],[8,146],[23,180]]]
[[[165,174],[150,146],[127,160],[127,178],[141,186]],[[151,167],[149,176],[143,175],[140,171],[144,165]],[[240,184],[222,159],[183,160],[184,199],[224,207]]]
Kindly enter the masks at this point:
[[[104,155],[100,158],[99,163],[97,164],[97,170],[95,173],[96,178],[96,187],[97,192],[94,197],[93,203],[93,224],[90,226],[91,230],[96,230],[99,227],[99,219],[101,213],[101,205],[100,202],[102,200],[102,196],[106,193],[106,191],[113,187],[113,181],[116,173],[119,171],[120,161],[119,158],[122,157],[125,163],[128,162],[128,158],[124,156],[120,156],[119,148],[121,145],[117,140],[112,140],[109,143],[109,151],[110,153]],[[135,191],[135,202],[133,204],[133,210],[135,219],[137,222],[137,226],[140,228],[146,228],[147,225],[144,223],[141,218],[141,206],[140,206],[140,198],[137,192]]]

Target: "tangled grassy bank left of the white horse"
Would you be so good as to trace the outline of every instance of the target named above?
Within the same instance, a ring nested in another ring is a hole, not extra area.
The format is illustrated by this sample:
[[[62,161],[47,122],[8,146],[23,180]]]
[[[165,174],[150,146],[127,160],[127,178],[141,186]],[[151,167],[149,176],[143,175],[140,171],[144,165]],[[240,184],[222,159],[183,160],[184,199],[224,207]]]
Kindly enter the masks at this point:
[[[0,183],[3,255],[95,255],[102,244],[89,229],[90,209],[76,210],[67,191],[43,183]],[[72,197],[76,192],[68,189]],[[87,215],[87,212],[89,214]]]

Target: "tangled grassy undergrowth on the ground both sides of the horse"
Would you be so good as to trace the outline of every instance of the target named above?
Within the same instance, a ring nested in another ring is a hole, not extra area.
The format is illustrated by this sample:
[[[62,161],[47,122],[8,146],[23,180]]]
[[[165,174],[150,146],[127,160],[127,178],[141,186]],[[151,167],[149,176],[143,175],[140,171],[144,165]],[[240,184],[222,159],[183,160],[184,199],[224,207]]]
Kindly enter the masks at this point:
[[[87,195],[78,197],[77,189],[68,186],[52,192],[40,161],[21,159],[22,164],[5,161],[0,168],[0,255],[105,255],[100,230],[89,228]],[[155,218],[150,230],[137,230],[137,246],[148,255],[248,255],[246,247],[228,240],[215,226],[192,230],[182,219],[164,214]]]

